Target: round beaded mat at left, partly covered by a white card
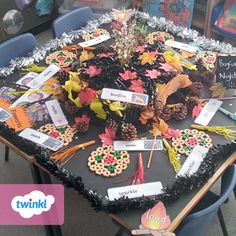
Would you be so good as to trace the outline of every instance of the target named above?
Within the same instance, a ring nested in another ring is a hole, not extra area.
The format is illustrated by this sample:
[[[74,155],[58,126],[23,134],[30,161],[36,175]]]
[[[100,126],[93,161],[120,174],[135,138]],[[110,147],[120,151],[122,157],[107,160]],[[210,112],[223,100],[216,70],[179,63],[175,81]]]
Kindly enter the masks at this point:
[[[70,142],[72,142],[73,136],[76,133],[76,129],[70,127],[69,125],[57,128],[54,124],[43,125],[38,129],[38,131],[63,141],[64,146],[67,146]]]

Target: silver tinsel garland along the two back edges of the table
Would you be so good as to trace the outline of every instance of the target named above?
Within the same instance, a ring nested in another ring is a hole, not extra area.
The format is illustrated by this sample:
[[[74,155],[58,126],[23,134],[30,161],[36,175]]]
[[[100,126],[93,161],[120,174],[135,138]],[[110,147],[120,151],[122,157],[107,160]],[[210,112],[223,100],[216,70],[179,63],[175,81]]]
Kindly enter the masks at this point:
[[[192,41],[196,46],[203,50],[216,51],[226,54],[236,53],[236,48],[234,48],[231,44],[219,42],[214,39],[208,39],[205,36],[201,36],[198,31],[188,29],[183,26],[176,26],[172,21],[169,21],[164,17],[151,17],[148,13],[139,11],[133,11],[132,14],[142,20],[145,20],[148,26],[150,26],[151,28],[156,28],[160,31],[166,31],[173,35],[177,35],[182,39]],[[85,28],[71,31],[69,33],[64,33],[60,39],[52,39],[44,46],[35,48],[28,57],[14,58],[13,60],[11,60],[8,67],[0,68],[0,78],[4,78],[12,74],[15,69],[21,69],[22,67],[27,67],[29,65],[32,65],[33,63],[42,61],[49,52],[72,44],[75,40],[78,40],[82,34],[96,29],[103,24],[110,23],[112,20],[112,13],[103,14],[95,20],[89,21]]]

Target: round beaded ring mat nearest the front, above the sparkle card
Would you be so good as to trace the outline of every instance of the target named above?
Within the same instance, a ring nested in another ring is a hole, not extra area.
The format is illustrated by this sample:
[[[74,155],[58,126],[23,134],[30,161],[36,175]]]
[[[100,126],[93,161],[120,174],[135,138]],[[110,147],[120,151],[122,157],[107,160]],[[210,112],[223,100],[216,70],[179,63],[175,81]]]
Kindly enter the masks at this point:
[[[113,146],[98,147],[88,158],[88,167],[105,177],[120,175],[130,163],[127,151],[114,151]]]

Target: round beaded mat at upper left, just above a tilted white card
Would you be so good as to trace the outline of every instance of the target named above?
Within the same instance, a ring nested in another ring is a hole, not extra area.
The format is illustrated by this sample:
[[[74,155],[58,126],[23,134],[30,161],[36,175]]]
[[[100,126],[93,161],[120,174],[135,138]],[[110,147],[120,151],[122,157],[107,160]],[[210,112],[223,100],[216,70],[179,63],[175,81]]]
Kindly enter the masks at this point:
[[[76,55],[68,51],[56,51],[46,57],[48,65],[55,64],[59,67],[68,67],[74,60]]]

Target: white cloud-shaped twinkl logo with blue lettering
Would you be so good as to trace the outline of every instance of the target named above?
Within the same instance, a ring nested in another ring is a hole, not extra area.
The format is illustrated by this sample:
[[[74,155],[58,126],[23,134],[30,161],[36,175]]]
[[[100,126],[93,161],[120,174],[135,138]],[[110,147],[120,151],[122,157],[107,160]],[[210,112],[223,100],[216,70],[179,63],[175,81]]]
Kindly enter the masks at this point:
[[[31,218],[33,215],[40,215],[51,209],[55,198],[52,195],[45,195],[35,190],[25,196],[16,196],[11,201],[11,207],[23,218]]]

